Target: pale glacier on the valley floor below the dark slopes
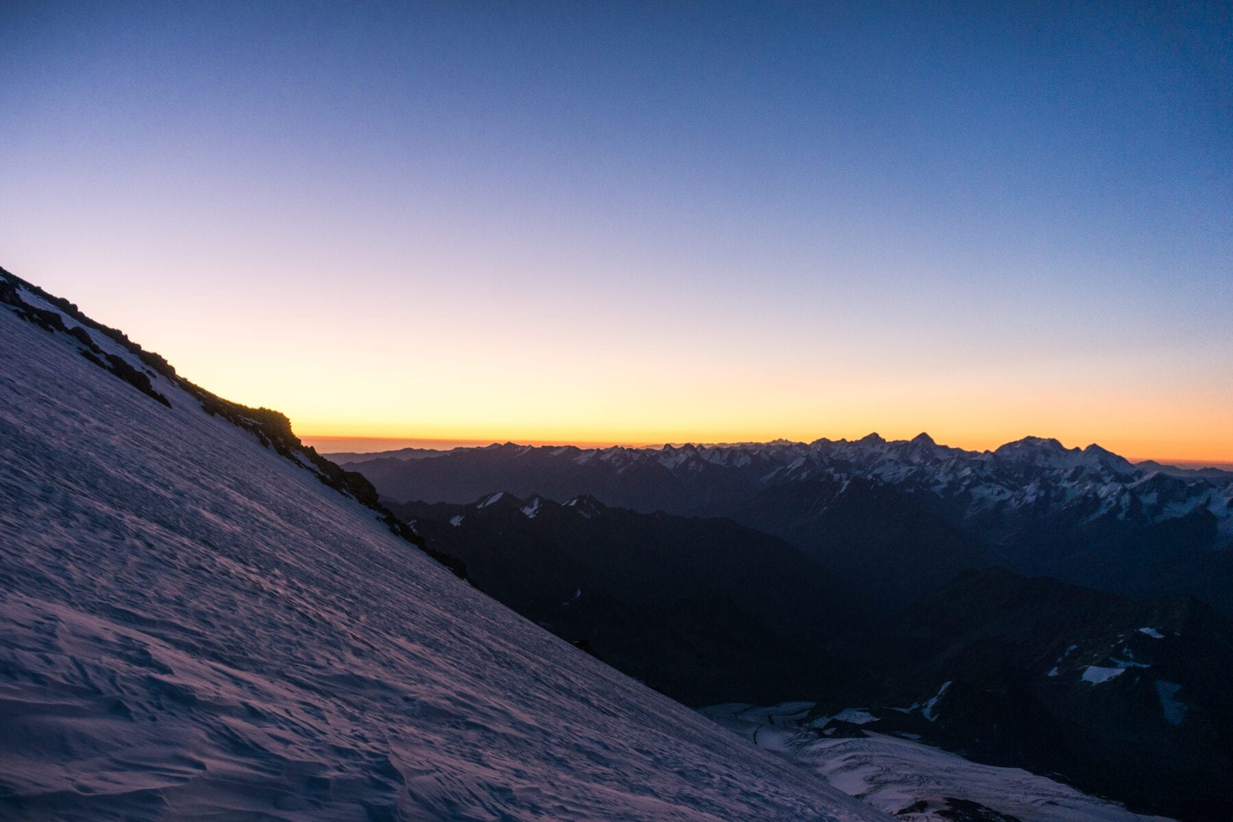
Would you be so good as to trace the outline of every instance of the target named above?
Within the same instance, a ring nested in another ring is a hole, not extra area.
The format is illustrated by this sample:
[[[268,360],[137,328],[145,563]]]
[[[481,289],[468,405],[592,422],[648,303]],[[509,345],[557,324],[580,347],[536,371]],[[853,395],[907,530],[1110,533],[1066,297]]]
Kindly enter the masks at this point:
[[[797,725],[809,712],[808,702],[714,705],[703,712],[747,742],[774,751],[905,822],[953,818],[932,811],[898,813],[920,801],[931,807],[943,805],[942,797],[979,802],[1021,822],[1165,822],[1131,813],[1046,776],[977,764],[910,739],[868,730],[863,738],[820,737],[815,730]]]

